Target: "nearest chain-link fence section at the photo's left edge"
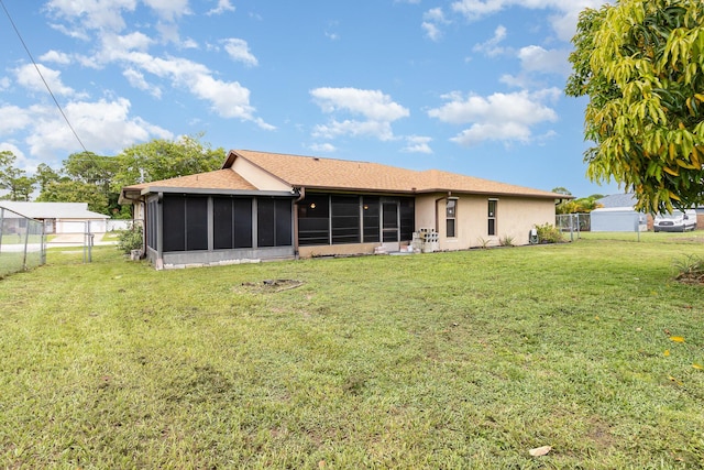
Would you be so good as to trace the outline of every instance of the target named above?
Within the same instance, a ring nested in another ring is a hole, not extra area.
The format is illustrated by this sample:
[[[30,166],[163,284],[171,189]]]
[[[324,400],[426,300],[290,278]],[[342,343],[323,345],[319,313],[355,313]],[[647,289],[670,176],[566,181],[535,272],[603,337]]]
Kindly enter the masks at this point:
[[[45,262],[44,223],[0,208],[0,277]]]

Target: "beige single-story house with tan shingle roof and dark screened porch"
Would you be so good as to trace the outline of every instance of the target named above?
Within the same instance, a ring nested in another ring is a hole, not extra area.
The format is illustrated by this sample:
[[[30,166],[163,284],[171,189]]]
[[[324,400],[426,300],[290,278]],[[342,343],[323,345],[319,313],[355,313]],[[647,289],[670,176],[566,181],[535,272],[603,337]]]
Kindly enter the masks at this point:
[[[430,170],[237,150],[221,170],[127,186],[156,267],[529,243],[554,221],[550,192]]]

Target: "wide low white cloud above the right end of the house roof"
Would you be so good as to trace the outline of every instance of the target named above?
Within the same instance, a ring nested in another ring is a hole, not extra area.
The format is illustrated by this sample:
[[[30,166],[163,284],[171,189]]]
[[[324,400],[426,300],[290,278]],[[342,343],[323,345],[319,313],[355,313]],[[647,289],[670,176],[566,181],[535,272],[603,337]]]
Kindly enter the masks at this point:
[[[483,141],[528,143],[534,139],[535,127],[558,120],[557,112],[548,102],[557,100],[560,95],[558,88],[494,94],[488,97],[463,97],[460,92],[453,92],[443,97],[448,100],[446,105],[431,109],[428,116],[452,124],[470,124],[451,139],[463,146]]]

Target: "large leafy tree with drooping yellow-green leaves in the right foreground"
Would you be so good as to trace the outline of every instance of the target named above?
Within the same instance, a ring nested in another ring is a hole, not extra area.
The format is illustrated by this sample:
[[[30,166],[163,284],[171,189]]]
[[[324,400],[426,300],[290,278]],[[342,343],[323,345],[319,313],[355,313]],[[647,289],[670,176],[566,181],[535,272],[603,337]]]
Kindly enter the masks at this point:
[[[652,212],[704,203],[704,2],[617,0],[580,14],[565,92],[588,97],[584,154]]]

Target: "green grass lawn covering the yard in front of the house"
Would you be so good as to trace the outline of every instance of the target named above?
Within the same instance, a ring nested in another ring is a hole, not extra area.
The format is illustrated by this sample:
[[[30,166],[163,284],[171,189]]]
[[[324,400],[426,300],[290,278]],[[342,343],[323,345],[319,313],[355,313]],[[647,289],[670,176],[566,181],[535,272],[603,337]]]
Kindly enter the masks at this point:
[[[0,467],[703,468],[703,287],[673,281],[703,253],[50,253],[0,281]]]

